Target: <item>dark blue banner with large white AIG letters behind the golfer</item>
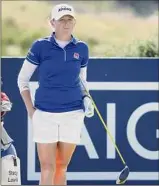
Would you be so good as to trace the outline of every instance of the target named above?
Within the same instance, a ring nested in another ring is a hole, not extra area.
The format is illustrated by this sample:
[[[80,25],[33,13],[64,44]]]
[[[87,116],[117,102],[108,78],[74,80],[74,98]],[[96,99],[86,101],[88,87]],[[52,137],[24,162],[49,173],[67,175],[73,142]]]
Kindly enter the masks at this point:
[[[2,90],[13,102],[5,127],[21,159],[22,184],[38,184],[39,161],[32,142],[31,121],[17,87],[23,58],[2,58]],[[90,93],[130,168],[126,184],[158,184],[159,179],[159,61],[91,58]],[[38,72],[30,89],[34,99]],[[99,117],[85,118],[81,144],[68,168],[68,184],[113,185],[123,164]]]

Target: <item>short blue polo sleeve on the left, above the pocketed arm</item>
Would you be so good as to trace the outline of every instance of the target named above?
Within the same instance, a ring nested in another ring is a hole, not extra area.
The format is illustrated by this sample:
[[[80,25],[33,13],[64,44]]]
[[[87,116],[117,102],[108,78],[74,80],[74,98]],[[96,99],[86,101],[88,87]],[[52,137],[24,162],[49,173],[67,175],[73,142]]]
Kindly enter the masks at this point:
[[[34,65],[40,64],[40,42],[39,41],[35,41],[32,44],[32,46],[28,51],[26,59]]]

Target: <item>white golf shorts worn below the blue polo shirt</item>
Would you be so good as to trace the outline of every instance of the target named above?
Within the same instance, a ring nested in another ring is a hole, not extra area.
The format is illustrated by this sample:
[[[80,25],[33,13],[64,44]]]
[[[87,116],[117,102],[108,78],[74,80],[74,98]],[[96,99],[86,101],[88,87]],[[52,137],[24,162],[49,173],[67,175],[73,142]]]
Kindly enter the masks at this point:
[[[83,110],[51,113],[37,109],[32,117],[33,141],[80,144],[83,124]]]

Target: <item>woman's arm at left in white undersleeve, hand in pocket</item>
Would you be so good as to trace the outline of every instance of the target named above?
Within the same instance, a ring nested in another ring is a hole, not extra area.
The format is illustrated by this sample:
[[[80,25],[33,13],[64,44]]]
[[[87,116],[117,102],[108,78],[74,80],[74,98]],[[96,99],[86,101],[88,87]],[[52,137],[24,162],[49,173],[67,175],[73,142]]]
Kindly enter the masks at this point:
[[[29,116],[32,118],[35,111],[34,105],[31,100],[30,89],[29,89],[29,80],[36,70],[37,65],[30,63],[25,59],[22,68],[18,75],[18,87],[24,104],[26,106]]]

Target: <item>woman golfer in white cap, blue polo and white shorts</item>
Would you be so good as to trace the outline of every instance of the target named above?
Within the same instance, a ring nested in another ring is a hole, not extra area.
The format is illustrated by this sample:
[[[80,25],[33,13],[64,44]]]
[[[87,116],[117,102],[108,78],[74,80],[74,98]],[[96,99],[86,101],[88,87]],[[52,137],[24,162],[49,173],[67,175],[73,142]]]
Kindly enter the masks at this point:
[[[80,143],[84,116],[94,107],[80,84],[86,86],[88,46],[76,39],[72,6],[56,5],[51,12],[50,36],[36,40],[18,75],[18,87],[33,124],[41,168],[40,185],[66,185],[66,171]],[[29,80],[38,67],[39,87],[32,103]]]

